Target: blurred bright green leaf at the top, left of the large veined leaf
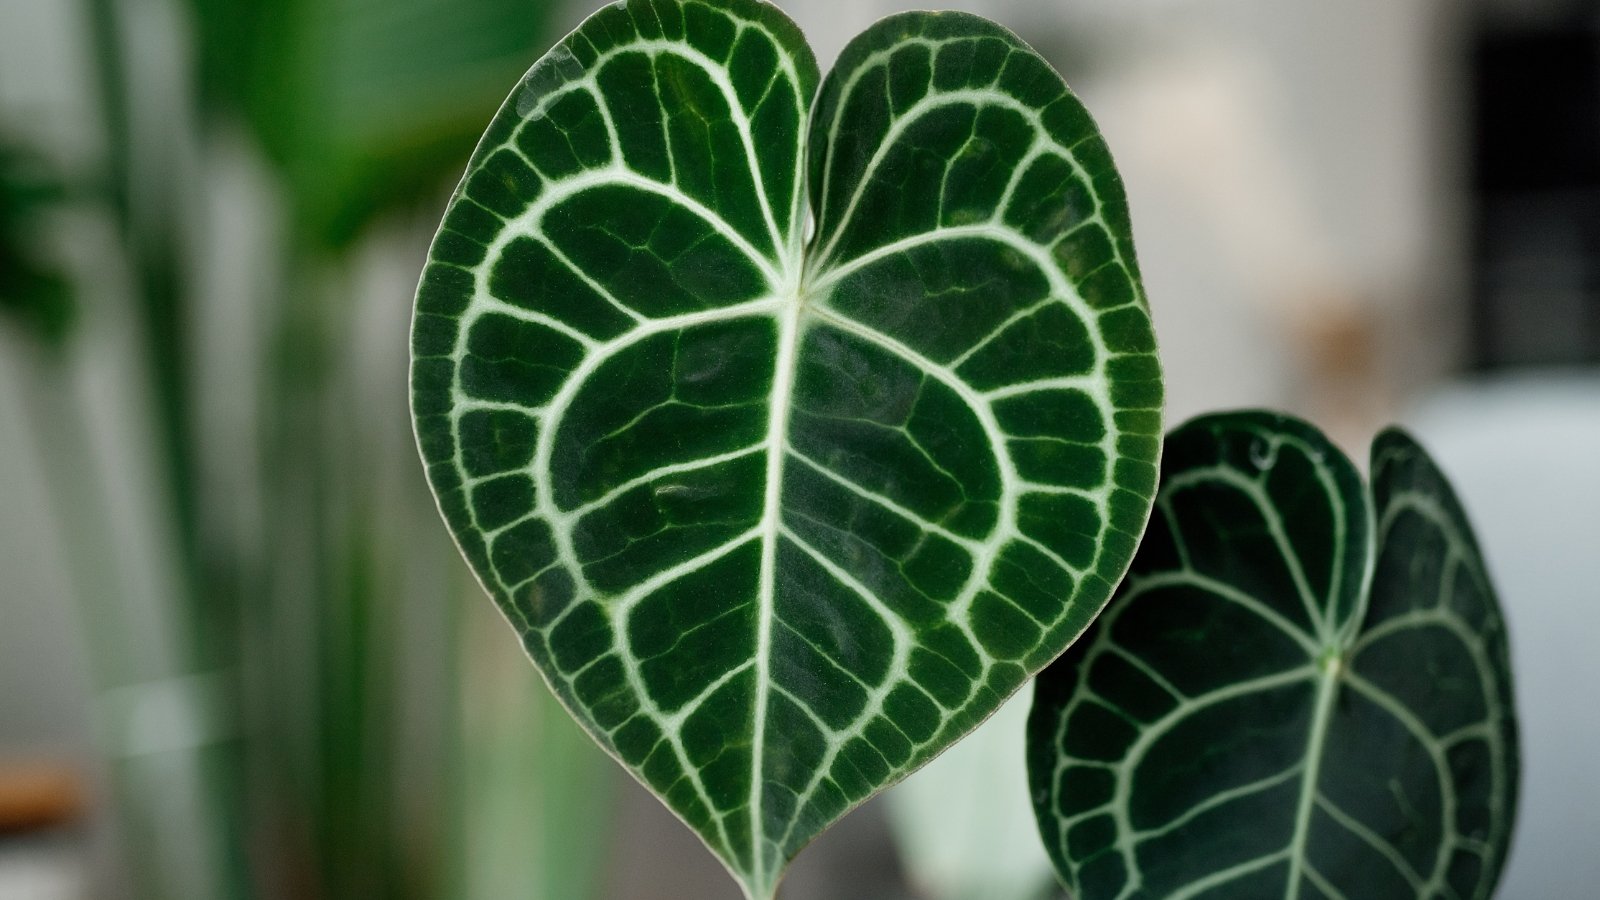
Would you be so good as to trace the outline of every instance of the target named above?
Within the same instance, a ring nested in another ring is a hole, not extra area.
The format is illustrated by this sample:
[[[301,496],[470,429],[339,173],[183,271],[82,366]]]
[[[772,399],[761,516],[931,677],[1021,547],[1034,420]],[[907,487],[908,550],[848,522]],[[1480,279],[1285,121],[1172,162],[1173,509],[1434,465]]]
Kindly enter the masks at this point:
[[[549,0],[190,0],[202,86],[242,114],[296,226],[342,247],[432,191],[542,43]]]

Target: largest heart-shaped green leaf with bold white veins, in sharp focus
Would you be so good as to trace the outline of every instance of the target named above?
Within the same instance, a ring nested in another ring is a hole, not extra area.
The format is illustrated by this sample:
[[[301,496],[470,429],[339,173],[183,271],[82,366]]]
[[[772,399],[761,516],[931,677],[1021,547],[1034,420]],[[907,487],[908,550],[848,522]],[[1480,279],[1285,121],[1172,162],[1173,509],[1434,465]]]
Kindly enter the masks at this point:
[[[752,897],[1083,631],[1160,452],[1122,186],[1061,78],[914,13],[816,82],[765,3],[595,13],[490,125],[413,327],[462,551]]]

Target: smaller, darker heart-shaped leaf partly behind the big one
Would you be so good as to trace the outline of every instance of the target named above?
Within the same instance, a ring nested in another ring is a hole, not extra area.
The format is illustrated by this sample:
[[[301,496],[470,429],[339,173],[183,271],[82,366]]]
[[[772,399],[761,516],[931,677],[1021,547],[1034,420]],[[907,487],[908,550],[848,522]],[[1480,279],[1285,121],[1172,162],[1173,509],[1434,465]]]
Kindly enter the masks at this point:
[[[1405,434],[1269,413],[1166,440],[1106,615],[1040,676],[1029,777],[1083,900],[1486,898],[1517,798],[1506,629]]]

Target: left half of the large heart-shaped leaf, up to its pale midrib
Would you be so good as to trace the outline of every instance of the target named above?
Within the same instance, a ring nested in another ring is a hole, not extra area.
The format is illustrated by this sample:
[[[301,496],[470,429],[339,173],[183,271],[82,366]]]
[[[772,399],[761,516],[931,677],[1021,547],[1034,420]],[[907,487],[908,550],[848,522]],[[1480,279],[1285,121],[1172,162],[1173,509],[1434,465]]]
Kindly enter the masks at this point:
[[[413,331],[419,444],[462,551],[563,703],[746,881],[733,749],[755,684],[728,634],[755,633],[816,78],[765,5],[602,10],[491,125]]]

